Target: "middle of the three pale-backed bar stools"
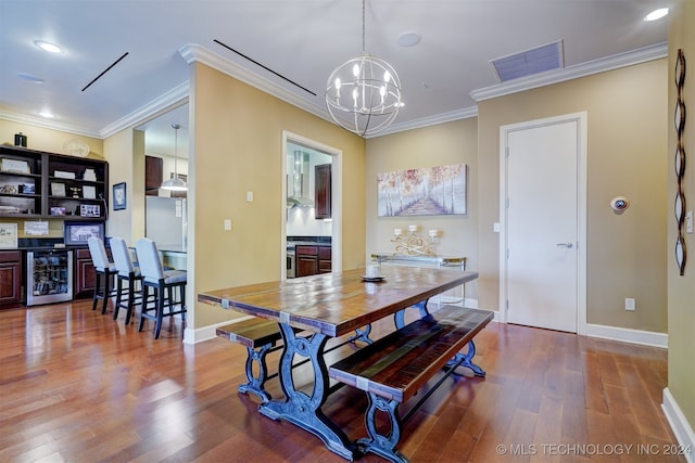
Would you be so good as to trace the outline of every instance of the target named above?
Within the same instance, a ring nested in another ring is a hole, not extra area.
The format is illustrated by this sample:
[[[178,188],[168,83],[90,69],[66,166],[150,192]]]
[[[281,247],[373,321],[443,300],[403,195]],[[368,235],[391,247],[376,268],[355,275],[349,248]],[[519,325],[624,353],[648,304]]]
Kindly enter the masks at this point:
[[[118,310],[126,309],[126,322],[130,323],[130,316],[136,303],[142,304],[142,275],[140,269],[132,263],[130,250],[126,242],[119,236],[113,236],[110,241],[113,262],[116,266],[116,305],[113,310],[113,319],[118,319]],[[123,284],[128,287],[124,288]],[[127,295],[127,300],[123,303],[123,296]]]

